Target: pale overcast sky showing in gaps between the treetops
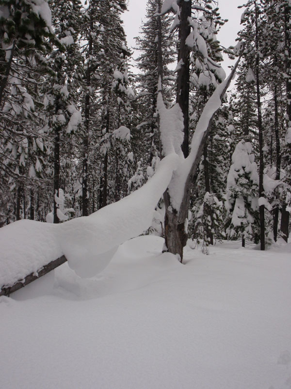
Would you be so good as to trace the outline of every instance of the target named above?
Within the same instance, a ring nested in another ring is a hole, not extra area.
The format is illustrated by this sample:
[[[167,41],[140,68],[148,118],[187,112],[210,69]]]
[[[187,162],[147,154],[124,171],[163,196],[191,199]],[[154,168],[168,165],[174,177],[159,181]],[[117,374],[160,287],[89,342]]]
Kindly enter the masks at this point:
[[[134,47],[134,36],[139,35],[142,20],[145,20],[147,0],[129,0],[128,12],[122,15],[124,20],[124,29],[127,35],[128,46]],[[222,27],[218,34],[218,39],[225,47],[235,45],[237,32],[240,30],[240,21],[243,9],[238,9],[238,5],[243,3],[242,0],[219,0],[218,6],[220,16],[228,19],[228,22]],[[226,69],[231,62],[223,64]],[[227,71],[226,71],[227,73]]]

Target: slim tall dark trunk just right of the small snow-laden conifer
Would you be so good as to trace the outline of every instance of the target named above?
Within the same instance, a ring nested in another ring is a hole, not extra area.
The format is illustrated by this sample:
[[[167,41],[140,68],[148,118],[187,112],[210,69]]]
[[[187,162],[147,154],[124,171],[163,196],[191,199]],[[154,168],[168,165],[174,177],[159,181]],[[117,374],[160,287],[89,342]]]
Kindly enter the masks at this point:
[[[263,152],[263,125],[262,125],[262,113],[261,113],[261,101],[260,101],[260,88],[259,88],[259,30],[258,30],[258,18],[259,9],[255,1],[256,7],[256,85],[257,85],[257,106],[258,106],[258,130],[259,130],[259,197],[264,196],[263,176],[264,176],[264,152]],[[260,249],[265,249],[265,206],[259,207],[259,222],[260,222]]]

